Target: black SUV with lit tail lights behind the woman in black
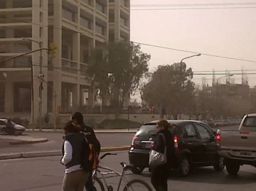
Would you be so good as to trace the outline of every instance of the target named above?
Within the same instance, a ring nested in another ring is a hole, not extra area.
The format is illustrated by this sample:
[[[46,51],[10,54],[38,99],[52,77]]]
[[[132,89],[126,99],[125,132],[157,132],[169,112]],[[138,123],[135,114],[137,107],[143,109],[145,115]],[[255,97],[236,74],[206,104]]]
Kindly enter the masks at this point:
[[[132,138],[129,150],[129,163],[132,172],[140,174],[149,168],[149,151],[156,135],[156,122],[142,125]],[[186,176],[194,167],[213,166],[215,170],[225,168],[223,158],[218,156],[215,131],[202,121],[168,120],[171,124],[176,149],[176,164],[173,169]],[[150,169],[149,169],[150,170]]]

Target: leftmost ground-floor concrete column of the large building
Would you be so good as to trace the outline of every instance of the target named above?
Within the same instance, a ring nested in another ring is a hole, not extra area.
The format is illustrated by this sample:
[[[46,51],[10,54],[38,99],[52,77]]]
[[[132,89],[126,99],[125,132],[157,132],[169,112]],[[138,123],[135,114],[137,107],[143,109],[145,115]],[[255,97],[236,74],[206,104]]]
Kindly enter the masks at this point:
[[[4,90],[4,113],[11,114],[14,112],[14,83],[10,80],[5,82]]]

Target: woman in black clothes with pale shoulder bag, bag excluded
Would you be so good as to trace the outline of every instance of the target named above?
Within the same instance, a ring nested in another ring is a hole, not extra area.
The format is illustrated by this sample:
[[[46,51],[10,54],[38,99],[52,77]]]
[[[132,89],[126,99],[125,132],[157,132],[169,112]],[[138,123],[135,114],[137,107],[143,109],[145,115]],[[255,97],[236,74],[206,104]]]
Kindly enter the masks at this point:
[[[161,119],[156,124],[156,138],[152,149],[159,153],[164,153],[166,148],[166,159],[167,162],[163,165],[154,166],[151,168],[151,183],[156,191],[167,191],[168,190],[168,176],[171,170],[171,164],[174,158],[174,138],[169,131],[168,121]]]

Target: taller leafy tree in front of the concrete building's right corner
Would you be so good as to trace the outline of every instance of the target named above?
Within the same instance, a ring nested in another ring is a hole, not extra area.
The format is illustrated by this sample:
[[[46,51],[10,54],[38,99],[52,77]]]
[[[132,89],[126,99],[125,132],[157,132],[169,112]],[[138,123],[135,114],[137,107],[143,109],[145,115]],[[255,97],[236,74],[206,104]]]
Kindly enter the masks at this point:
[[[139,81],[149,70],[150,55],[143,53],[140,45],[126,42],[113,42],[106,45],[106,54],[91,55],[87,72],[95,76],[103,95],[110,99],[116,114],[124,106],[125,95],[130,95],[139,87]],[[100,59],[101,58],[101,59]]]

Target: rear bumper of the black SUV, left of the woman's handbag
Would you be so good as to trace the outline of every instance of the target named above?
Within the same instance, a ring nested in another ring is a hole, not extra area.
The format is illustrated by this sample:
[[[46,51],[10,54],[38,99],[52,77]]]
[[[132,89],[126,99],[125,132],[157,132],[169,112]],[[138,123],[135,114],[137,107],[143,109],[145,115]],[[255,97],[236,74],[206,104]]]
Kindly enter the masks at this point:
[[[129,163],[131,165],[148,168],[149,167],[149,151],[142,149],[129,150]]]

